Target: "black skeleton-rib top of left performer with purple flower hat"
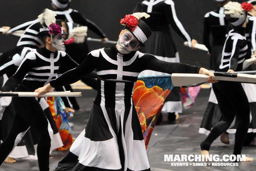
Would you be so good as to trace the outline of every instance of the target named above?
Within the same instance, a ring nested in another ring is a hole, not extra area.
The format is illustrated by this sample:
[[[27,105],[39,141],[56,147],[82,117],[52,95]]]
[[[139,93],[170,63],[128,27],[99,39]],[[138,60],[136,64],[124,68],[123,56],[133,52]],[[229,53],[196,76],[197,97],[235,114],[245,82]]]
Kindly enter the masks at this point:
[[[26,54],[16,73],[6,81],[1,91],[14,90],[20,84],[23,90],[33,92],[56,78],[59,67],[66,63],[69,64],[66,66],[69,69],[78,66],[63,51],[53,53],[45,47],[32,50]]]

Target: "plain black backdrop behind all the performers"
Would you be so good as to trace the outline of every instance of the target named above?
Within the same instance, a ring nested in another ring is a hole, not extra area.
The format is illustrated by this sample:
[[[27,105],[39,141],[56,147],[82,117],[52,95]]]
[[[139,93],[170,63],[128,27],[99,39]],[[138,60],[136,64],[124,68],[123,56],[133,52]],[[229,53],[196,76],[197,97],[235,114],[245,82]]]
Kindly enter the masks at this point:
[[[177,17],[189,35],[202,43],[204,15],[217,8],[213,0],[173,0]],[[237,0],[244,2],[244,0]],[[70,8],[78,10],[83,16],[96,23],[109,40],[117,40],[123,28],[119,24],[125,14],[131,14],[137,0],[72,0]],[[15,26],[26,21],[35,20],[44,8],[51,8],[51,0],[0,0],[0,26]],[[207,52],[191,50],[183,45],[184,40],[172,30],[180,61],[209,68]],[[88,31],[88,37],[98,38]],[[0,52],[16,47],[17,37],[0,34]],[[90,50],[109,44],[90,43]]]

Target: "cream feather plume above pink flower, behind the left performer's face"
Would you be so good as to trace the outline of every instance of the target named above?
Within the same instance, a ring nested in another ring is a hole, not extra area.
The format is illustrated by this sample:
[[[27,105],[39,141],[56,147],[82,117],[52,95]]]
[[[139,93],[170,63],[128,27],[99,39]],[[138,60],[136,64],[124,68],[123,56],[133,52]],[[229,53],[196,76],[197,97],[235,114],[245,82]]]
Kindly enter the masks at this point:
[[[83,43],[87,36],[87,26],[75,27],[69,32],[69,38],[74,38],[74,43]]]

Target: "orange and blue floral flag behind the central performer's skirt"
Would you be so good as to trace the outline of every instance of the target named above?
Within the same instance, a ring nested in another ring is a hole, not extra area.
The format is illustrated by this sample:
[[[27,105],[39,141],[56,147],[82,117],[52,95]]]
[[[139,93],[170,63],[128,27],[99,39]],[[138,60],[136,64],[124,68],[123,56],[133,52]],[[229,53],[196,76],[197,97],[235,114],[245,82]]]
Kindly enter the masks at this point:
[[[171,75],[138,77],[134,86],[132,97],[146,148],[164,101],[173,87]]]

